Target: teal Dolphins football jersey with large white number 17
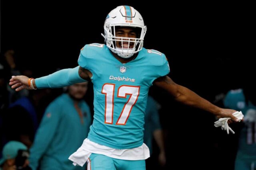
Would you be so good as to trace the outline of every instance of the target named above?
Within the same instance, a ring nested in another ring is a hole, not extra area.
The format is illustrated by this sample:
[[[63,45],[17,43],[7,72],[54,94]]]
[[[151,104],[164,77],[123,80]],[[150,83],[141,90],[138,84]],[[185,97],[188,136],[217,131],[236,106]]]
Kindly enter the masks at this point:
[[[81,49],[78,64],[92,72],[94,120],[88,139],[115,149],[143,143],[144,114],[152,82],[170,72],[163,53],[142,49],[122,64],[104,44]]]

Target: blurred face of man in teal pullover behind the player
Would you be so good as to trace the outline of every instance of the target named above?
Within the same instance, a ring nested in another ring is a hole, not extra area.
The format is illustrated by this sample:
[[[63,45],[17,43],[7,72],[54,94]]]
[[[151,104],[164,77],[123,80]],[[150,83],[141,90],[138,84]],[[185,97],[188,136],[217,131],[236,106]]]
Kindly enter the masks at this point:
[[[88,82],[76,83],[68,87],[68,94],[76,99],[81,100],[87,91]]]

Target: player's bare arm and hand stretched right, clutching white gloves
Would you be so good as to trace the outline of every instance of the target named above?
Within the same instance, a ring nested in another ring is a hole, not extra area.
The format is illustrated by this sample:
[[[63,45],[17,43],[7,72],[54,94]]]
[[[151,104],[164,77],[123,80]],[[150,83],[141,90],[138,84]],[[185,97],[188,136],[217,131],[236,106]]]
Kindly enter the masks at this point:
[[[214,104],[210,103],[209,101],[205,100],[204,98],[198,96],[192,90],[184,86],[180,86],[176,84],[170,77],[163,76],[157,78],[154,81],[156,86],[167,90],[172,96],[174,96],[175,100],[178,102],[182,102],[183,104],[197,107],[200,109],[204,109],[216,115],[218,118],[220,117],[231,117],[232,120],[238,121],[238,119],[232,115],[232,113],[236,112],[233,109],[223,109]]]

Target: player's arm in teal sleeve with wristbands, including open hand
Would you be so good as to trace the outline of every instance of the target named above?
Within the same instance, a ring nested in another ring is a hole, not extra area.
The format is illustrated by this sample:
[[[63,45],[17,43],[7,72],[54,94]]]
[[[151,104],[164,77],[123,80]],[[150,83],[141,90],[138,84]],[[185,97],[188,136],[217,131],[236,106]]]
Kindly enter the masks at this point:
[[[40,78],[28,78],[27,76],[12,76],[10,86],[17,92],[22,89],[35,90],[37,88],[60,88],[74,83],[85,82],[92,76],[90,72],[80,66],[67,68]]]

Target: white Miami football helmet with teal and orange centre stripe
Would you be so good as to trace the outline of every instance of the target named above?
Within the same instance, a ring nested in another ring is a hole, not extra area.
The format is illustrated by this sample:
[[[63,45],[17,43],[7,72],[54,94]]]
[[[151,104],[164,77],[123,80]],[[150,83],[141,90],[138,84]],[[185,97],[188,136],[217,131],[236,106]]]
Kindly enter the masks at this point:
[[[134,27],[139,29],[136,38],[116,37],[116,27]],[[140,13],[131,6],[118,6],[112,10],[106,17],[104,23],[104,37],[107,47],[122,58],[132,57],[135,53],[142,50],[143,40],[147,27]],[[121,47],[117,47],[116,43],[122,43]],[[123,43],[126,42],[124,46]],[[128,45],[127,45],[128,42]],[[133,44],[133,47],[130,47]]]

